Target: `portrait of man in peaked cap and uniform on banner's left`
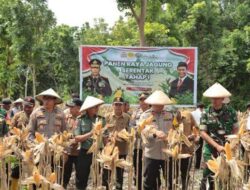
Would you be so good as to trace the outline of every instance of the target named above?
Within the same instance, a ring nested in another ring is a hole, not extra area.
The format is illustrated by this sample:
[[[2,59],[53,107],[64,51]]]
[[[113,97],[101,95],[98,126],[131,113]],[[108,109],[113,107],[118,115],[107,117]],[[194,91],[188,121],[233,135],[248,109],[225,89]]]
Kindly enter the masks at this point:
[[[83,78],[83,91],[91,95],[111,96],[112,89],[108,78],[100,75],[101,64],[101,61],[98,59],[92,59],[89,62],[91,75]]]

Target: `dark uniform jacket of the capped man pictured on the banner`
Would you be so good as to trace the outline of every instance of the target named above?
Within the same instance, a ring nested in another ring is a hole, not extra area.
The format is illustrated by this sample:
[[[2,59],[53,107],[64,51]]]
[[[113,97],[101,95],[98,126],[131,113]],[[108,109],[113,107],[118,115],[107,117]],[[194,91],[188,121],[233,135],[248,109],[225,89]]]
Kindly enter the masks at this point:
[[[84,78],[83,91],[91,93],[92,95],[99,94],[102,96],[110,96],[112,94],[108,78],[100,75],[98,77],[93,77],[91,75]]]

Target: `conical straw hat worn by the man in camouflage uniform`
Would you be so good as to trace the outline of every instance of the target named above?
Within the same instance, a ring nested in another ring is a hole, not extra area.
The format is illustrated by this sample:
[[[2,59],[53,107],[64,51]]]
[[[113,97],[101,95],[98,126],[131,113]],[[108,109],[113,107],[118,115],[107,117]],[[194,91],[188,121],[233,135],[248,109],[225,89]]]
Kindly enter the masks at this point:
[[[216,82],[203,93],[203,96],[208,98],[226,98],[230,97],[231,93],[220,83]]]

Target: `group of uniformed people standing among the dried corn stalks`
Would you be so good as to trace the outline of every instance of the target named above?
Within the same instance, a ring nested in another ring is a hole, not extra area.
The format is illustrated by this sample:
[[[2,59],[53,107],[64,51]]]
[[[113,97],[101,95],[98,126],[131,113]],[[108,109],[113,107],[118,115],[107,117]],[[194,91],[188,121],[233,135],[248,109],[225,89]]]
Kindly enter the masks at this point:
[[[11,109],[11,100],[3,99],[0,109],[1,117],[1,137],[11,135],[9,128],[22,129],[29,127],[29,139],[35,138],[35,133],[39,132],[50,138],[55,133],[69,131],[73,134],[70,147],[65,149],[65,165],[63,186],[67,188],[73,171],[76,170],[76,189],[86,189],[93,162],[92,153],[88,154],[89,148],[93,144],[93,124],[101,121],[105,128],[103,132],[102,147],[108,144],[111,139],[115,139],[115,146],[119,150],[119,158],[126,159],[128,155],[128,142],[119,139],[115,134],[122,130],[136,130],[136,140],[133,154],[134,182],[138,190],[160,189],[165,179],[165,186],[168,189],[176,188],[179,179],[174,176],[180,175],[181,189],[185,190],[189,184],[189,173],[194,155],[196,154],[196,168],[199,168],[201,150],[203,150],[203,160],[208,161],[217,157],[224,151],[226,142],[225,136],[238,131],[237,115],[235,110],[223,103],[225,98],[231,96],[222,85],[215,83],[203,94],[211,99],[211,106],[204,109],[204,105],[199,104],[193,112],[176,111],[172,109],[172,101],[162,91],[155,91],[152,94],[143,92],[138,95],[138,108],[129,112],[128,102],[122,97],[115,97],[112,103],[112,112],[100,116],[99,108],[104,101],[92,96],[88,96],[84,102],[78,96],[72,97],[66,102],[66,109],[61,109],[59,104],[63,103],[62,98],[53,90],[48,89],[35,98],[25,97],[18,106],[14,104],[15,112]],[[41,106],[35,106],[35,99]],[[36,108],[35,108],[36,107]],[[35,109],[34,109],[35,108]],[[248,105],[250,109],[250,105]],[[14,113],[11,115],[10,113]],[[142,121],[152,117],[151,123],[141,128]],[[168,147],[166,140],[168,134],[176,126],[182,123],[183,134],[193,144],[186,146],[183,144],[180,154],[189,154],[190,157],[180,158],[177,167],[172,156],[166,154],[163,149]],[[249,121],[248,121],[249,122]],[[199,129],[200,133],[194,134],[193,128]],[[142,131],[139,131],[142,129]],[[153,130],[152,130],[153,129]],[[146,143],[142,137],[146,139]],[[202,146],[203,140],[204,147]],[[195,146],[200,145],[196,150]],[[203,148],[202,148],[203,147]],[[196,150],[196,152],[195,152]],[[162,170],[162,172],[161,172]],[[203,178],[201,190],[214,189],[212,172],[203,165]],[[180,173],[179,173],[180,172]],[[163,178],[161,177],[163,174]],[[18,171],[12,171],[13,180],[18,179]],[[124,169],[116,169],[116,189],[123,189]],[[103,171],[102,185],[109,189],[110,172]]]

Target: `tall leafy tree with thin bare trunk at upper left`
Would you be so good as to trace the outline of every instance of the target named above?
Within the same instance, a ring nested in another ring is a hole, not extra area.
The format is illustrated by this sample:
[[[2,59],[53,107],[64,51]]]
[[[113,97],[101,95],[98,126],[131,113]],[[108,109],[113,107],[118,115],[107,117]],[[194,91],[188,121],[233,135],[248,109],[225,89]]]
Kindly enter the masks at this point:
[[[44,34],[55,25],[55,19],[41,0],[17,0],[12,14],[10,33],[16,59],[31,70],[33,95],[36,95],[36,75],[44,61]]]

